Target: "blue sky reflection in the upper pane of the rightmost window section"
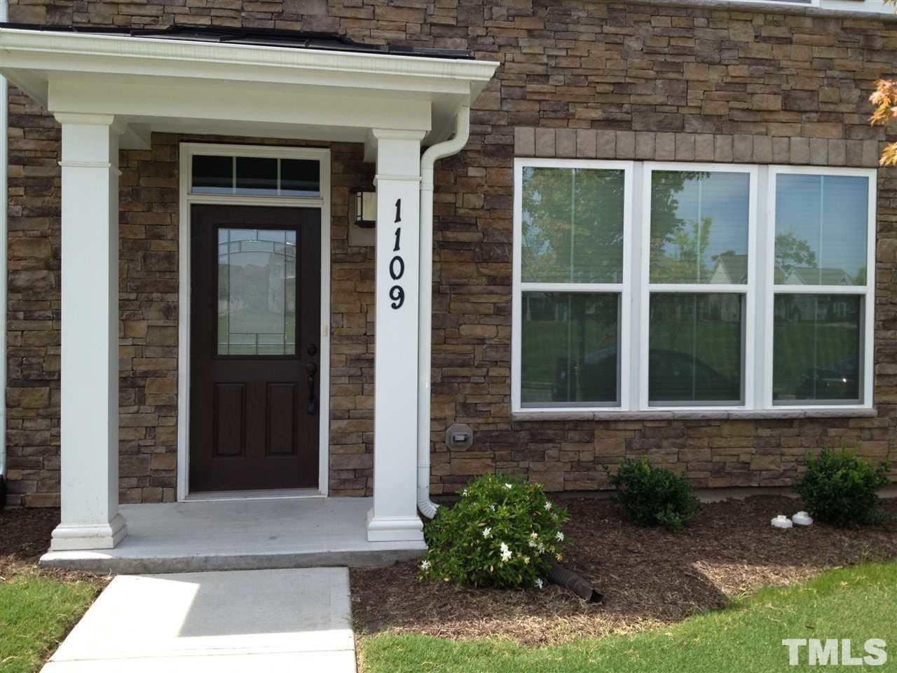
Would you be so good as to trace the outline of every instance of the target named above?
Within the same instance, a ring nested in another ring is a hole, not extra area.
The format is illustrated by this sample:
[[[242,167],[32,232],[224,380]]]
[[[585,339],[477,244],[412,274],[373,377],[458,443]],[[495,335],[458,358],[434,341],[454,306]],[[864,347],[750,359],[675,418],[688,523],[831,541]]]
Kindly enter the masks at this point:
[[[792,235],[813,250],[816,269],[844,271],[854,284],[865,282],[868,181],[845,175],[790,175],[776,178],[776,236]],[[837,274],[824,277],[834,282]],[[859,277],[858,277],[859,276]]]

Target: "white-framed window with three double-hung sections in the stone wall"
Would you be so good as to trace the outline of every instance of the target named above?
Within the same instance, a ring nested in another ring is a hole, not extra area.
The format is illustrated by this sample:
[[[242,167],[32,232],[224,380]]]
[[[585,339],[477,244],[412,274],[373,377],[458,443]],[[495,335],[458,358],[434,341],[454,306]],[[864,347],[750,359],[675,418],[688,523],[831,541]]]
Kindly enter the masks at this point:
[[[871,403],[874,170],[518,160],[516,192],[515,409]]]

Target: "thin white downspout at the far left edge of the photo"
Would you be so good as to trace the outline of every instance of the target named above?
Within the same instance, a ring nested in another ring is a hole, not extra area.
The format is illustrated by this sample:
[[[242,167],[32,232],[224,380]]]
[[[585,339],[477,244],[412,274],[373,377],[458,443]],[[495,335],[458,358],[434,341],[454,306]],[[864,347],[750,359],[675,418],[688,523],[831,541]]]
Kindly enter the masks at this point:
[[[0,0],[0,22],[9,21],[9,3]],[[6,491],[6,246],[9,210],[9,89],[0,77],[0,510]]]

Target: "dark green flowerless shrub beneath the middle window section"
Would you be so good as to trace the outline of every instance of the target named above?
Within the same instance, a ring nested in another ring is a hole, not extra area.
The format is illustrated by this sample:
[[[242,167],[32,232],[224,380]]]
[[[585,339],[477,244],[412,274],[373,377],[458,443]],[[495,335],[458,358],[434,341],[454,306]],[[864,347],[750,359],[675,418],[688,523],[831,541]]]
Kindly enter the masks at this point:
[[[610,470],[607,472],[610,475]],[[650,465],[645,456],[640,460],[623,459],[619,471],[610,475],[610,482],[617,489],[614,501],[623,506],[629,520],[640,526],[679,530],[701,510],[684,476]]]

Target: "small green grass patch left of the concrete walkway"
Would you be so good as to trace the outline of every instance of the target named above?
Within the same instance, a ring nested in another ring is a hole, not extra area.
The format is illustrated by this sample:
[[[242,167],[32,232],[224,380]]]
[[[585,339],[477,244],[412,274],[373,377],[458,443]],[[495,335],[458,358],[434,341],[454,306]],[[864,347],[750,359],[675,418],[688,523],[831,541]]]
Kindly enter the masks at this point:
[[[34,673],[97,595],[86,582],[19,575],[0,582],[0,670]]]

